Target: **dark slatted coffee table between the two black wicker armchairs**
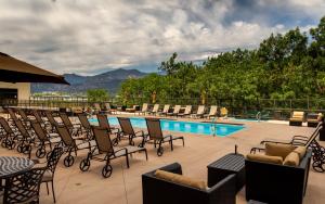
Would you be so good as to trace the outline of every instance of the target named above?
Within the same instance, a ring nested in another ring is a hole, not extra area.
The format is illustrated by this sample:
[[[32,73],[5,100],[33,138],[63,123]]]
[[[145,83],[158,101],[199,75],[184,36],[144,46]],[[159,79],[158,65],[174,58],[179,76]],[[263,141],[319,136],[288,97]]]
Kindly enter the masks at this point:
[[[208,187],[212,187],[229,175],[236,175],[236,191],[245,184],[245,157],[231,153],[208,165]]]

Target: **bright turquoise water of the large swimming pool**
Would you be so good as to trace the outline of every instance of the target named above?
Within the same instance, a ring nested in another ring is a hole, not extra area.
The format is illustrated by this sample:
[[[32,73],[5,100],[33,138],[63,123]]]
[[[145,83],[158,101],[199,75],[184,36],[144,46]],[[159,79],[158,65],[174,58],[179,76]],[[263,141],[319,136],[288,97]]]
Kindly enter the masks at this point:
[[[92,118],[90,119],[90,122],[98,123],[98,119]],[[108,122],[110,125],[119,125],[116,117],[108,117]],[[131,124],[133,127],[146,128],[145,119],[141,117],[131,117]],[[226,137],[245,128],[245,126],[240,125],[180,122],[170,119],[161,119],[160,124],[162,130],[180,131],[187,133],[202,133],[210,136],[213,135],[216,128],[216,135],[218,137]]]

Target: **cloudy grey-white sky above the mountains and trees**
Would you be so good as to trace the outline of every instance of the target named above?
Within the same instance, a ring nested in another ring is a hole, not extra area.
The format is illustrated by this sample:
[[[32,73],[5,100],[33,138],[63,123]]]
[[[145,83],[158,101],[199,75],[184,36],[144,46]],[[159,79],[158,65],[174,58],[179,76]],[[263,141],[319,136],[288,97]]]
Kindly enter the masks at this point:
[[[57,74],[156,71],[317,25],[325,0],[0,0],[0,52]]]

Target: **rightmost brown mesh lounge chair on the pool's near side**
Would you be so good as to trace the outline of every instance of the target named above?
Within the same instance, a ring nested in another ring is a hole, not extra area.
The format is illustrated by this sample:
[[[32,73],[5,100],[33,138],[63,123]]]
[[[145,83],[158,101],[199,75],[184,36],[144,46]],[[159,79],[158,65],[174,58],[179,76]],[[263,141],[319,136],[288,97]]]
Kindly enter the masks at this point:
[[[147,135],[145,136],[145,143],[148,142],[154,142],[154,145],[156,148],[156,145],[158,144],[158,149],[157,149],[157,155],[161,156],[164,154],[164,148],[162,148],[162,143],[168,142],[170,144],[170,149],[171,151],[173,150],[173,144],[172,141],[173,140],[182,140],[183,141],[183,146],[184,146],[184,137],[174,137],[174,136],[164,136],[162,131],[161,131],[161,127],[160,127],[160,119],[158,118],[145,118],[146,120],[146,126],[147,126]],[[144,144],[145,144],[144,143]],[[143,145],[144,145],[143,144]]]

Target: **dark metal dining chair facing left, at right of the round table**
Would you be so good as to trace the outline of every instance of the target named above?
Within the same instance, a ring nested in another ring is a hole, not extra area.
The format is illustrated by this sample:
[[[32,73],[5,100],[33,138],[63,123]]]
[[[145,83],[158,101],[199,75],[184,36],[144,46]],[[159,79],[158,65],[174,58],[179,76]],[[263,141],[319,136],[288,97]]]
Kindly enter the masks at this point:
[[[47,191],[49,194],[49,182],[52,184],[52,195],[54,203],[55,201],[55,193],[54,193],[54,173],[56,169],[56,165],[64,153],[63,148],[55,146],[51,152],[49,152],[48,158],[44,163],[40,163],[38,160],[32,160],[34,163],[37,164],[37,166],[43,166],[46,168],[46,173],[43,175],[43,178],[41,180],[41,183],[47,183]]]

